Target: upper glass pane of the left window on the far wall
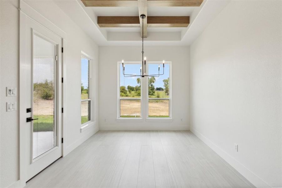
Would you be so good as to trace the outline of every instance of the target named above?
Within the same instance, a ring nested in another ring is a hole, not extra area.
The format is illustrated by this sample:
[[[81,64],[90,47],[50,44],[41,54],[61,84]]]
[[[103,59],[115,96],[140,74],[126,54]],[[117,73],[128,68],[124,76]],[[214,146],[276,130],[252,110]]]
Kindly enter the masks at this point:
[[[140,75],[141,64],[124,64],[125,74]],[[120,98],[140,98],[141,96],[141,78],[124,77],[122,73],[122,64],[120,64]]]

